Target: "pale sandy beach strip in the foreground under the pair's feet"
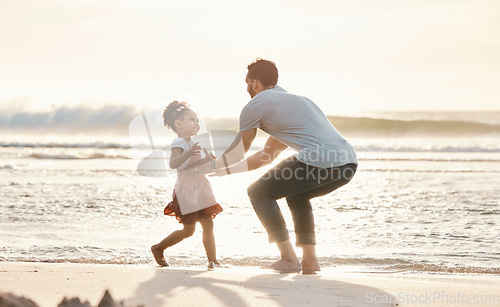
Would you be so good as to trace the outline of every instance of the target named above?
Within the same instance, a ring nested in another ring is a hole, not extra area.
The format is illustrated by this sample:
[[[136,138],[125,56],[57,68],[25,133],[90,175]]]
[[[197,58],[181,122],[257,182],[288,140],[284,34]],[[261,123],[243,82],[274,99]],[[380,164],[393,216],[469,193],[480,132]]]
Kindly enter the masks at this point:
[[[144,306],[498,306],[493,275],[322,272],[278,274],[256,268],[158,268],[71,263],[0,264],[0,291],[57,306],[78,296],[97,305],[109,289]]]

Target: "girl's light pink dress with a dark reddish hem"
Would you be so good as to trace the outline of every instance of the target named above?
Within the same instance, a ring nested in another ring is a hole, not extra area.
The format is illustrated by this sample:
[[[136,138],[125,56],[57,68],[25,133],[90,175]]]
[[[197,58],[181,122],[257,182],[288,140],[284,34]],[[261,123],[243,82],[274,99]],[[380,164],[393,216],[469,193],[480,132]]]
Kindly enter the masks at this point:
[[[179,144],[175,147],[181,147],[184,150],[193,146],[192,142],[180,140],[182,139],[176,139],[172,146]],[[175,216],[179,223],[182,224],[194,224],[202,218],[214,218],[222,212],[222,207],[215,200],[212,186],[205,174],[184,171],[184,169],[200,159],[200,156],[192,156],[186,163],[177,168],[177,181],[174,186],[173,199],[163,210],[165,215]]]

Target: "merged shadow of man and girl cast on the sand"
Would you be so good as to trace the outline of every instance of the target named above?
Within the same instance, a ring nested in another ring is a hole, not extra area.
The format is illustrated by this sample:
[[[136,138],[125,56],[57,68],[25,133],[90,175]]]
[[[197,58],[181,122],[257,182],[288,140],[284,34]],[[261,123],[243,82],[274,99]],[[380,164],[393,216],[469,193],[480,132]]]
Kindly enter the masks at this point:
[[[397,306],[395,301],[377,304],[371,300],[374,295],[391,297],[380,289],[340,280],[259,269],[157,269],[125,302],[149,301],[151,306]]]

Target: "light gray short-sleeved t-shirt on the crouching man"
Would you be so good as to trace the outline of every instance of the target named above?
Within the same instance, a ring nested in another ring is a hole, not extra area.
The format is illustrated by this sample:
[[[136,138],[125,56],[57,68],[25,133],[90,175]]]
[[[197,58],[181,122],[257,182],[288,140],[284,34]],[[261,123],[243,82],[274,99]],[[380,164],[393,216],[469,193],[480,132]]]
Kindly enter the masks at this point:
[[[326,168],[358,164],[356,152],[310,99],[279,86],[255,95],[240,114],[240,131],[260,128],[297,151],[302,163]]]

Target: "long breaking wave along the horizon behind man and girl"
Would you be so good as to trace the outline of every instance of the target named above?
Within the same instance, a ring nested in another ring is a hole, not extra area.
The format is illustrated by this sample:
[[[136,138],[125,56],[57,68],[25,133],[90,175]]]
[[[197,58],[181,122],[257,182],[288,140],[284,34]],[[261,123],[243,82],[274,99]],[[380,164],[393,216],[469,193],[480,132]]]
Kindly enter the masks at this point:
[[[90,104],[89,104],[90,105]],[[0,109],[0,129],[53,134],[128,133],[131,120],[142,110],[130,105],[100,107],[59,106],[48,111]],[[161,116],[160,114],[158,116]],[[329,120],[346,136],[477,136],[500,134],[500,122],[485,123],[474,116],[463,120],[404,120],[377,117],[329,116]],[[205,119],[210,129],[237,130],[237,118]]]

